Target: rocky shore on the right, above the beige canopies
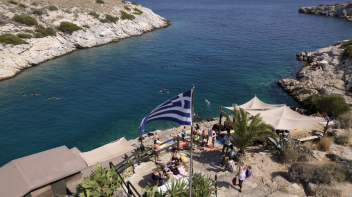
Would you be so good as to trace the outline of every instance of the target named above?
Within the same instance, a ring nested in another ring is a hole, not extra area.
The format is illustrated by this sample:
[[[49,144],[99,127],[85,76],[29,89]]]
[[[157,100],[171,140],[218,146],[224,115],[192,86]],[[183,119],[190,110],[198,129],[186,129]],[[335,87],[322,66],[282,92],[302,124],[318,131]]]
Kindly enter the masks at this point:
[[[318,49],[314,52],[297,54],[298,60],[307,64],[297,73],[296,79],[283,78],[278,85],[298,102],[314,94],[340,94],[346,103],[352,104],[352,57],[343,59],[345,48],[341,44]]]

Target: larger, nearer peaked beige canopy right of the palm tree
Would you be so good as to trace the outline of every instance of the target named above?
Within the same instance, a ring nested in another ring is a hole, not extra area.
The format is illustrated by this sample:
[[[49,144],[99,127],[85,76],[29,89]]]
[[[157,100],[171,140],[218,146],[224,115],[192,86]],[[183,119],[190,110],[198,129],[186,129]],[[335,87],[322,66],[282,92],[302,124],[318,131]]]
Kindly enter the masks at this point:
[[[321,123],[321,120],[303,116],[294,112],[287,106],[274,108],[271,110],[246,110],[250,115],[255,116],[260,113],[260,117],[267,124],[273,125],[275,129],[300,129],[317,123]]]

